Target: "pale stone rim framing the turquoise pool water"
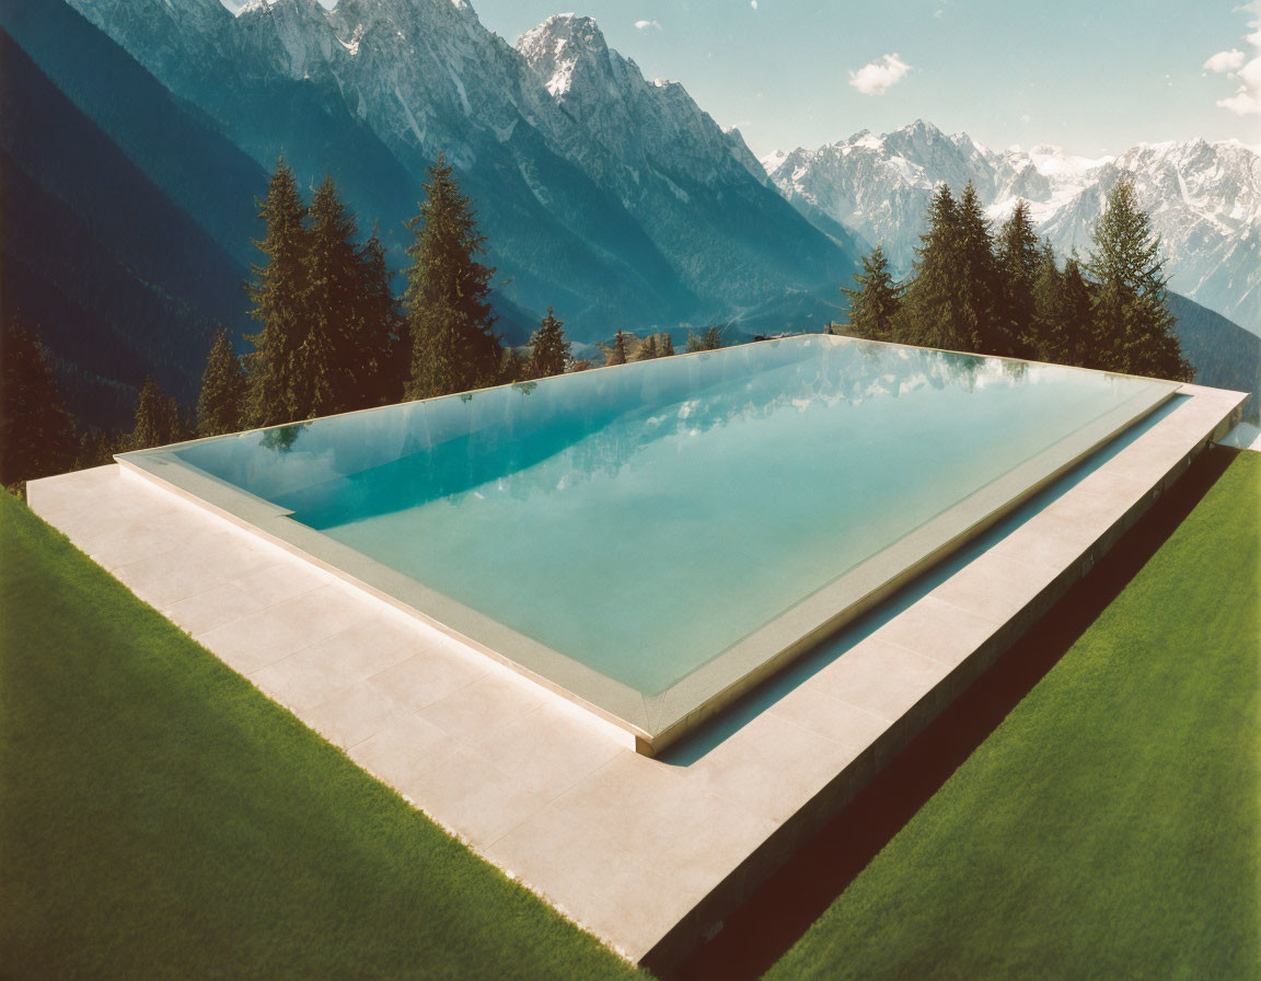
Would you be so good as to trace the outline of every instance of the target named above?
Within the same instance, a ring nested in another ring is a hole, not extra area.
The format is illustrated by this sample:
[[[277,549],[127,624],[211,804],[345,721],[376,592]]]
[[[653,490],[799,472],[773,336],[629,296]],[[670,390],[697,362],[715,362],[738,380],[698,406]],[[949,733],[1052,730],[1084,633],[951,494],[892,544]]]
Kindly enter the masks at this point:
[[[908,348],[904,344],[826,334],[762,343],[779,345],[818,342],[831,342],[836,345]],[[982,356],[946,353],[986,361]],[[709,352],[696,352],[692,357],[704,358],[707,354]],[[1019,358],[1001,361],[1024,366],[1040,364]],[[643,366],[614,367],[636,371]],[[1052,367],[1064,369],[1064,366]],[[1116,372],[1091,373],[1134,378]],[[545,381],[556,383],[564,378],[565,376],[560,376]],[[259,498],[173,454],[174,450],[206,440],[119,454],[115,460],[594,712],[601,720],[622,729],[628,745],[643,755],[652,757],[686,738],[690,731],[704,725],[707,719],[721,712],[745,692],[762,685],[786,665],[879,605],[976,535],[992,527],[1120,432],[1156,411],[1165,401],[1174,397],[1178,390],[1175,382],[1159,382],[1151,378],[1141,381],[1165,388],[1156,392],[1136,392],[1092,422],[1063,436],[1008,473],[955,502],[946,511],[890,542],[815,593],[802,596],[772,620],[753,629],[665,691],[652,696],[641,694],[581,661],[521,634],[491,615],[306,527],[290,517],[293,514],[290,509]],[[517,383],[499,386],[501,390],[514,387],[520,386]],[[460,396],[445,396],[445,398],[455,397]],[[383,409],[390,406],[343,415],[380,412]],[[295,424],[252,431],[262,432],[291,425]]]

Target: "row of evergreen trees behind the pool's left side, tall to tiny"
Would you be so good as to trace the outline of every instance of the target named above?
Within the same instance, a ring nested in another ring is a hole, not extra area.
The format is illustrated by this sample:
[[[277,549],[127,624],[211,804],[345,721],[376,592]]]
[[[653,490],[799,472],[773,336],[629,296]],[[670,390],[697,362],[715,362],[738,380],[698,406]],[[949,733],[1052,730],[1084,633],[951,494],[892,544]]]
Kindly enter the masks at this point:
[[[195,412],[188,414],[145,380],[127,432],[79,431],[64,409],[49,353],[20,316],[5,311],[0,377],[0,483],[108,463],[112,454],[317,416],[427,398],[491,385],[594,367],[571,354],[564,323],[549,306],[528,354],[504,347],[489,301],[496,270],[487,240],[439,156],[425,199],[407,223],[406,287],[377,229],[359,240],[358,221],[325,177],[310,204],[281,158],[257,202],[261,260],[245,289],[250,351],[238,356],[219,329],[207,357]],[[724,344],[724,328],[690,334],[687,351]],[[601,345],[605,364],[675,353],[668,333],[638,338],[619,330]]]

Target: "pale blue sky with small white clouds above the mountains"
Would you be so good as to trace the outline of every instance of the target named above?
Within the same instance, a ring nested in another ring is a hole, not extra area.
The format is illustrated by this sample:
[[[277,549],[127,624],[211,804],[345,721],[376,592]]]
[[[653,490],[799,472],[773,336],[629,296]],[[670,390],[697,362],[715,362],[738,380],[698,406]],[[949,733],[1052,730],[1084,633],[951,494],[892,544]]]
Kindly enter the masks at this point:
[[[473,0],[509,42],[556,3]],[[1261,144],[1261,0],[586,0],[575,13],[759,156],[917,117],[995,149],[1091,156],[1194,136]]]

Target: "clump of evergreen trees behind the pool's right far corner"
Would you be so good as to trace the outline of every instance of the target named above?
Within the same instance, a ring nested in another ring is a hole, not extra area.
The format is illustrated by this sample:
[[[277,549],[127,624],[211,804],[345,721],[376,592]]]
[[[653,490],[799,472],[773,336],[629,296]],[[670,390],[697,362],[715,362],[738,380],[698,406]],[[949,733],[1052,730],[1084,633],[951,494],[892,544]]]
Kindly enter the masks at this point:
[[[1084,262],[1073,253],[1061,267],[1024,200],[995,233],[971,182],[957,199],[942,184],[907,281],[894,280],[876,246],[854,275],[857,287],[842,287],[847,333],[1190,381],[1160,240],[1129,182],[1110,193],[1092,246]]]

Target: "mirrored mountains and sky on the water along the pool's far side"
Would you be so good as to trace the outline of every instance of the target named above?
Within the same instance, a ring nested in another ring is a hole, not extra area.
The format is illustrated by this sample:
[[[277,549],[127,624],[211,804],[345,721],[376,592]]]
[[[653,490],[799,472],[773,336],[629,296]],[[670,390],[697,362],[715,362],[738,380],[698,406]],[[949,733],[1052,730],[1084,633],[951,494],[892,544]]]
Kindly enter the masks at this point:
[[[883,401],[922,398],[914,393],[926,388],[1011,388],[1066,371],[803,339],[404,403],[212,440],[182,455],[319,526],[443,498],[459,506],[474,490],[473,499],[565,493],[634,465],[654,444],[680,440],[675,451],[686,453],[686,441],[715,427],[788,412],[865,406],[836,425],[875,429],[880,414],[871,411]]]

